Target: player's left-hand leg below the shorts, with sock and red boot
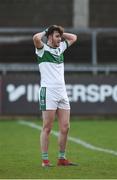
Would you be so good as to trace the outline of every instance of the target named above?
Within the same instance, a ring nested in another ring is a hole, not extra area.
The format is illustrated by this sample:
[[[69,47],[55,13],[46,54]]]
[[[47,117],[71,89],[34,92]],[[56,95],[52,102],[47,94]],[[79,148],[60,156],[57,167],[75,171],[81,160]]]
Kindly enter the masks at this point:
[[[42,111],[43,117],[43,128],[40,135],[40,144],[42,151],[42,166],[49,166],[48,160],[48,145],[49,145],[49,135],[53,126],[55,118],[55,110]]]

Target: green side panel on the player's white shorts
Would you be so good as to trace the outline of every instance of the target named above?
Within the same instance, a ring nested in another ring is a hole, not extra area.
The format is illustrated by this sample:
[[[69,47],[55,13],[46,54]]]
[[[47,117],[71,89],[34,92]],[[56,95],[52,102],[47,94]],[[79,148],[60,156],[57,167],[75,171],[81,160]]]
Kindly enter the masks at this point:
[[[46,87],[41,87],[40,90],[40,110],[46,110]]]

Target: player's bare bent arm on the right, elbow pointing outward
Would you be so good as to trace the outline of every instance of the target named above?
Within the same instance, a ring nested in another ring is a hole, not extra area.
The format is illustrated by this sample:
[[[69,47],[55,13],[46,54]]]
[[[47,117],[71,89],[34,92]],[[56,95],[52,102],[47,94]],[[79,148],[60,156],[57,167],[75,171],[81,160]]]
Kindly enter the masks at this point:
[[[72,33],[63,33],[63,38],[68,42],[69,46],[71,46],[77,40],[77,35]]]

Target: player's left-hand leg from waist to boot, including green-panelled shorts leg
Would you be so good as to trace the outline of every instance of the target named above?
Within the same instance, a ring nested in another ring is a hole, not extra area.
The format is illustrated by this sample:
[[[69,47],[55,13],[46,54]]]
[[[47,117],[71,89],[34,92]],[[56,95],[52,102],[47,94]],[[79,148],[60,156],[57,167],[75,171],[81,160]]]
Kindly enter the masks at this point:
[[[40,144],[42,151],[42,160],[45,166],[49,164],[48,145],[49,134],[53,126],[57,104],[54,98],[52,88],[41,87],[39,91],[40,109],[42,110],[43,128],[40,135]]]

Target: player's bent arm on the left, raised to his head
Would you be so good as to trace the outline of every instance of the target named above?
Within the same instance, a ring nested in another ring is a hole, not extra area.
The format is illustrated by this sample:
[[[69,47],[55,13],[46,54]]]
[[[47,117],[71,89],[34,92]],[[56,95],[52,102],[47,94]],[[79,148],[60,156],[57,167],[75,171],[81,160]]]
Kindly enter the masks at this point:
[[[39,32],[39,33],[36,33],[34,36],[33,36],[33,42],[34,42],[34,45],[36,48],[40,49],[43,47],[43,41],[42,41],[42,38],[46,35],[46,31],[42,31],[42,32]]]

